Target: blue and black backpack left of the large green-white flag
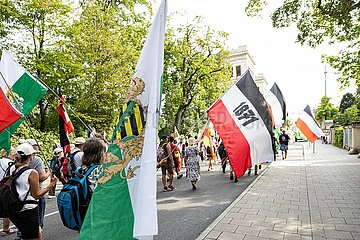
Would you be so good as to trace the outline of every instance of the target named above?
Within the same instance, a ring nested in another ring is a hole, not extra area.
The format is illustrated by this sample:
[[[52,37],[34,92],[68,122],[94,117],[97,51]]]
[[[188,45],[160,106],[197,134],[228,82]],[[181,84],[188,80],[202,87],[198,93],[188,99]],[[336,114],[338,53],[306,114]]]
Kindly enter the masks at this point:
[[[91,166],[84,174],[78,168],[59,193],[57,204],[65,227],[80,230],[91,199],[87,177],[97,166]]]

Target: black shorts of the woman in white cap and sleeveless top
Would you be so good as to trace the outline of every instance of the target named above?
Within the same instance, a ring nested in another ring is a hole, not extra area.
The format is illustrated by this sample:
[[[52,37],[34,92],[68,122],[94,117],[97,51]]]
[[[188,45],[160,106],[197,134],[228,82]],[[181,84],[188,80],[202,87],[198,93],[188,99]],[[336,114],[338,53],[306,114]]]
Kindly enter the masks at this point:
[[[39,238],[39,207],[19,212],[10,221],[19,229],[22,239]]]

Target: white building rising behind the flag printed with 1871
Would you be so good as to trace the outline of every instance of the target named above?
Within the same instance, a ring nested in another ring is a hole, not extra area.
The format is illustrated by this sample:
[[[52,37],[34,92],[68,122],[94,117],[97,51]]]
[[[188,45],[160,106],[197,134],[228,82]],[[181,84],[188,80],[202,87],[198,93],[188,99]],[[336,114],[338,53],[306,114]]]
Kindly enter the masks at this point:
[[[230,57],[228,60],[232,65],[233,76],[232,80],[237,80],[246,70],[250,70],[251,75],[255,78],[254,81],[259,87],[259,90],[264,94],[268,89],[268,83],[263,74],[257,74],[255,67],[255,60],[250,55],[246,46],[240,46],[237,49],[230,51]]]

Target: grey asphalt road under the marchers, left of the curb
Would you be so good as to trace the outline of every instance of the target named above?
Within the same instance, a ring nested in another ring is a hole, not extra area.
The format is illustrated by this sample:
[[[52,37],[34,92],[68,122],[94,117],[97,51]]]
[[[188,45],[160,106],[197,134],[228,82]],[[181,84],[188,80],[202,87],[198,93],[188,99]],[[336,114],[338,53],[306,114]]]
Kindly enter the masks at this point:
[[[159,235],[155,239],[196,239],[255,179],[253,174],[245,174],[238,183],[231,182],[229,172],[221,173],[219,164],[208,172],[207,163],[204,162],[201,169],[197,190],[192,190],[191,183],[182,178],[174,180],[176,190],[172,192],[162,192],[161,172],[158,171]],[[57,190],[60,189],[61,185],[58,185]],[[46,204],[43,239],[77,239],[76,231],[63,226],[57,213],[56,199],[47,199]],[[1,221],[0,224],[2,225]],[[0,238],[13,240],[15,234],[7,236],[0,233]]]

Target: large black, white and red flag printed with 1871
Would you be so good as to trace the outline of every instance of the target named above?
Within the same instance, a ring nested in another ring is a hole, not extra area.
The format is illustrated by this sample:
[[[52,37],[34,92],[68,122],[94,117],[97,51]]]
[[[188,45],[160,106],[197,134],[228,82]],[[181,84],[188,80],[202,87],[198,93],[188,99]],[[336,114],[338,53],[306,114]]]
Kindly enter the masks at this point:
[[[273,160],[272,120],[267,103],[247,71],[208,110],[236,177]]]

